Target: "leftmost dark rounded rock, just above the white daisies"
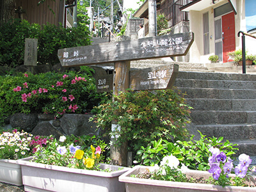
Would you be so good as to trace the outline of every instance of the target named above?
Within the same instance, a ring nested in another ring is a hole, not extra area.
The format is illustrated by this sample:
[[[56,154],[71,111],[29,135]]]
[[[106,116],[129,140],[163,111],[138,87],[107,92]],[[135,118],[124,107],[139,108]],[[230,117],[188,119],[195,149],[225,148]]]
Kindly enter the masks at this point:
[[[38,123],[36,114],[15,113],[10,117],[10,124],[13,128],[20,127],[26,132],[31,132]]]

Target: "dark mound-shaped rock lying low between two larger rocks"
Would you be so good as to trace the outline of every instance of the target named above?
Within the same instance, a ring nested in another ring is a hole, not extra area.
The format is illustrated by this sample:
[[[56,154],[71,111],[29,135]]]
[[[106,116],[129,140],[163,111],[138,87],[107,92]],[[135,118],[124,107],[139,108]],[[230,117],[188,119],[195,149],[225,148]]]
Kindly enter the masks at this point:
[[[40,122],[31,132],[33,135],[40,136],[54,136],[55,138],[60,138],[63,132],[55,129],[49,122]]]

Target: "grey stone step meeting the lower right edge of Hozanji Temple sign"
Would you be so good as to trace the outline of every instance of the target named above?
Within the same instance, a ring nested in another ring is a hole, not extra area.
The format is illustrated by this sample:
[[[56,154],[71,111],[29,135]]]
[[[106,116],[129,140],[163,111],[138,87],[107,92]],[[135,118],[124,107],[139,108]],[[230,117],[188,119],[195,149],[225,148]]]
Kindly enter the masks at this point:
[[[256,89],[256,81],[230,81],[205,79],[176,79],[175,86],[190,88]]]

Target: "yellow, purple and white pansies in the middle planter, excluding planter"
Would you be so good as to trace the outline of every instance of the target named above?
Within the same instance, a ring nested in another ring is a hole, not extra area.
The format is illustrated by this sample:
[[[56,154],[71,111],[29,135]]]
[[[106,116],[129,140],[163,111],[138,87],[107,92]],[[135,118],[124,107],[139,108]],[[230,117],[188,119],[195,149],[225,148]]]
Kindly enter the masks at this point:
[[[47,147],[38,146],[32,161],[69,168],[99,170],[99,163],[104,159],[105,147],[104,141],[95,136],[61,136],[59,140],[54,138],[49,141]]]

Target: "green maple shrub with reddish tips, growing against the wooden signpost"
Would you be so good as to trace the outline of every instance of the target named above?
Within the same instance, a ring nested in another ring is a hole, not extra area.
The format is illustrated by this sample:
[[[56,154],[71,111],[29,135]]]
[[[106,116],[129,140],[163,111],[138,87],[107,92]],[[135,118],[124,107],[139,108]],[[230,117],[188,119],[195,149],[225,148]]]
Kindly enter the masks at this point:
[[[188,136],[184,126],[189,122],[189,109],[185,99],[173,90],[125,92],[115,96],[115,102],[110,99],[97,107],[95,120],[106,133],[120,135],[113,144],[128,141],[129,150],[136,152],[159,138],[184,140]],[[120,131],[110,130],[113,120]]]

